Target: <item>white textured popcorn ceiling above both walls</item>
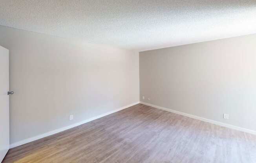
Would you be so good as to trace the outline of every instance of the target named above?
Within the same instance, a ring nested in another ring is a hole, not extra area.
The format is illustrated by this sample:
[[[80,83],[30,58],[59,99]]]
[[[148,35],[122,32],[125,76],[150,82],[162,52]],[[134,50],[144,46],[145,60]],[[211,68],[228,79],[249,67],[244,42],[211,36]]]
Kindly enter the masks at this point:
[[[256,0],[0,0],[0,25],[144,51],[256,33]]]

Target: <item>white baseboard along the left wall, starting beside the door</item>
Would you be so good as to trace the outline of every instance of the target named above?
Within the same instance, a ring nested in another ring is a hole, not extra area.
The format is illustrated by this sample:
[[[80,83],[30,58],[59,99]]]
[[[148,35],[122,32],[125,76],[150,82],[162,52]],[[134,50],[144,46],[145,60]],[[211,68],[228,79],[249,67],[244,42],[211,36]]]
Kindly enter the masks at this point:
[[[84,124],[84,123],[87,123],[87,122],[96,120],[96,119],[98,119],[98,118],[107,116],[107,115],[112,114],[112,113],[114,113],[114,112],[118,112],[118,111],[120,111],[120,110],[126,109],[126,108],[131,107],[131,106],[133,106],[133,105],[136,105],[136,104],[138,104],[138,103],[140,103],[140,102],[138,101],[138,102],[135,102],[135,103],[131,103],[130,105],[126,105],[126,106],[124,106],[124,107],[121,107],[121,108],[116,109],[116,110],[112,110],[112,111],[110,111],[110,112],[106,112],[106,113],[101,114],[101,115],[99,115],[99,116],[95,116],[95,117],[93,117],[93,118],[90,118],[90,119],[87,119],[87,120],[84,120],[84,121],[81,121],[81,122],[78,122],[78,123],[75,123],[75,124],[72,124],[72,125],[69,125],[69,126],[66,126],[66,127],[62,127],[62,128],[60,128],[60,129],[52,130],[52,131],[46,132],[46,133],[41,134],[41,135],[38,135],[38,136],[34,136],[34,137],[31,137],[31,138],[24,139],[24,140],[22,140],[22,141],[18,141],[18,142],[16,142],[16,143],[12,143],[12,144],[10,145],[10,149],[11,149],[11,148],[14,148],[14,147],[18,147],[18,146],[23,145],[23,144],[26,144],[26,143],[29,143],[29,142],[31,142],[31,141],[35,141],[35,140],[44,138],[44,137],[46,137],[46,136],[50,136],[50,135],[53,135],[53,134],[57,134],[58,132],[62,132],[62,131],[64,131],[64,130],[71,129],[71,128],[73,128],[73,127],[82,125],[82,124]]]

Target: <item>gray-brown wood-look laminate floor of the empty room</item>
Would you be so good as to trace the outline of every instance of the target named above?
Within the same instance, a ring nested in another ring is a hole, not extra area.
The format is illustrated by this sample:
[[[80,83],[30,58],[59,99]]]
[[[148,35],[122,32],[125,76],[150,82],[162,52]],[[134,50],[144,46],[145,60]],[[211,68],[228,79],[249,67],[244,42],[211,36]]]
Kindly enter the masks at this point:
[[[10,149],[13,162],[256,163],[256,136],[138,104]]]

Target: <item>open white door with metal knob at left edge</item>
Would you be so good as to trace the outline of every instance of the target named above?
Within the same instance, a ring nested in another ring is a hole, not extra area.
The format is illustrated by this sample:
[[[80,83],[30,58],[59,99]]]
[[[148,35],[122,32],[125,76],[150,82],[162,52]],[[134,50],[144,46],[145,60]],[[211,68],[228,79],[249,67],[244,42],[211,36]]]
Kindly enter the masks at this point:
[[[0,46],[0,162],[9,150],[9,50]]]

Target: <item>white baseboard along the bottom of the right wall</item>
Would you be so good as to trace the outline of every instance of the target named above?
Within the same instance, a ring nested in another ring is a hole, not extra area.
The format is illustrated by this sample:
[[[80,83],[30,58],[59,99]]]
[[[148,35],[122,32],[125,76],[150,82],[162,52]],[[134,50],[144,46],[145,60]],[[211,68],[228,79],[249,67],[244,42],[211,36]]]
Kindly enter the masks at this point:
[[[184,113],[184,112],[179,112],[179,111],[168,109],[168,108],[165,108],[165,107],[159,107],[157,105],[152,105],[150,103],[145,103],[145,102],[142,102],[142,101],[140,101],[140,103],[144,104],[144,105],[148,105],[150,107],[155,107],[157,109],[166,110],[168,112],[173,112],[173,113],[176,113],[176,114],[180,114],[182,116],[194,118],[196,120],[201,120],[201,121],[205,121],[205,122],[212,123],[212,124],[215,124],[215,125],[219,125],[219,126],[227,127],[227,128],[230,128],[230,129],[239,130],[239,131],[242,131],[242,132],[247,132],[249,134],[256,135],[256,131],[254,131],[254,130],[249,130],[249,129],[245,129],[245,128],[242,128],[242,127],[229,125],[227,123],[222,123],[222,122],[219,122],[219,121],[209,120],[207,118],[202,118],[202,117],[199,117],[199,116],[194,116],[192,114],[187,114],[187,113]]]

